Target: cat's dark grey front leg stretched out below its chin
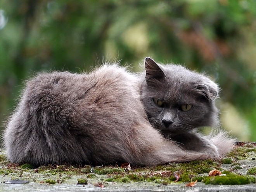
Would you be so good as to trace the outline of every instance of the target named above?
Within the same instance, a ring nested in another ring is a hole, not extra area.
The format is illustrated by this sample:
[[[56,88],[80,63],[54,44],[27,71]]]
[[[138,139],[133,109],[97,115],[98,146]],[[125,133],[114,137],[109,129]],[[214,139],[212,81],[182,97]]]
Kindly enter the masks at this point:
[[[169,138],[175,141],[182,149],[207,154],[210,158],[219,157],[218,148],[207,137],[196,131],[175,135]]]

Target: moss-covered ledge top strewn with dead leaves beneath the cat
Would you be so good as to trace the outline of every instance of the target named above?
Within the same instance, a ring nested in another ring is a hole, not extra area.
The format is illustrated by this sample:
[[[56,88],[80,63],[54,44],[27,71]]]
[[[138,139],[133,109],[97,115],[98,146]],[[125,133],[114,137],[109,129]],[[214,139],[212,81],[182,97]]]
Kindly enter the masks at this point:
[[[236,185],[256,183],[256,162],[252,160],[256,156],[255,146],[237,147],[224,159],[213,161],[192,161],[188,163],[169,163],[154,167],[135,168],[130,171],[118,166],[74,166],[74,165],[48,165],[33,167],[30,164],[14,164],[7,161],[4,152],[0,151],[0,181],[6,180],[28,180],[40,184],[68,183],[134,183],[147,182],[169,185],[174,183],[174,173],[180,175],[176,183],[186,183],[198,180],[205,184]],[[243,160],[242,160],[243,159]],[[241,161],[249,159],[254,165],[247,167],[247,174],[240,175],[244,169]],[[225,164],[225,166],[223,166]],[[217,169],[226,176],[208,176],[209,171]],[[86,182],[83,182],[86,181]]]

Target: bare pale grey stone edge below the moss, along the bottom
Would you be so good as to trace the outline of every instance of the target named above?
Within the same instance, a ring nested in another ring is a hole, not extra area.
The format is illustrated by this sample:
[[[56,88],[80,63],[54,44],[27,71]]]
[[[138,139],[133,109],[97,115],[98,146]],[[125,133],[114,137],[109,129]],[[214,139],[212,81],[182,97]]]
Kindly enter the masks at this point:
[[[195,185],[195,187],[185,187],[181,184],[174,185],[157,185],[157,186],[149,186],[149,183],[125,183],[122,185],[109,185],[107,187],[99,188],[94,187],[92,184],[88,185],[70,185],[70,184],[56,184],[56,185],[45,185],[38,184],[36,182],[31,182],[28,184],[0,184],[0,191],[27,191],[27,192],[80,192],[80,191],[140,191],[140,192],[151,192],[151,191],[183,191],[183,192],[255,192],[256,184],[249,185],[204,185],[199,183]]]

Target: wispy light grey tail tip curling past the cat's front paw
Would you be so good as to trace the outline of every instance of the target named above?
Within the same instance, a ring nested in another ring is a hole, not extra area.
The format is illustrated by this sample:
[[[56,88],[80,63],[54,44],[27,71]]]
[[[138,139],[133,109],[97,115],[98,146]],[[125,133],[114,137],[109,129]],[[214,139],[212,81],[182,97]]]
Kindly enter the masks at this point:
[[[209,134],[209,139],[216,145],[220,157],[225,156],[230,152],[237,141],[235,138],[232,138],[228,135],[228,132],[223,130],[213,130]]]

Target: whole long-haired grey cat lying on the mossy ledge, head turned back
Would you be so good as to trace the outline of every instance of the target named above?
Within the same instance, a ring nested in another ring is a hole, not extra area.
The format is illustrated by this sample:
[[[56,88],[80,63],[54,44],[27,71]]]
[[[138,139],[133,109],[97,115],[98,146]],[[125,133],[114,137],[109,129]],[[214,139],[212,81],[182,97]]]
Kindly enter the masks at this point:
[[[105,64],[89,74],[38,74],[4,132],[13,163],[154,166],[219,158],[234,140],[218,124],[218,86],[182,66],[145,58],[145,73]]]

